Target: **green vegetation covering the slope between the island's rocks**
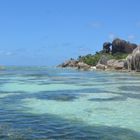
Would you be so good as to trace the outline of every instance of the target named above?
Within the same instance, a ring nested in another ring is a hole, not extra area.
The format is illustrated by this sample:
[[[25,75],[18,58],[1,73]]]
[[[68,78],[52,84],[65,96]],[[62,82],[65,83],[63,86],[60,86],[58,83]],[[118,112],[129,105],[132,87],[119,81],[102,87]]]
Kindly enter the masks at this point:
[[[95,66],[98,63],[98,61],[99,61],[99,59],[101,58],[102,55],[107,56],[109,59],[119,60],[119,59],[125,59],[128,54],[126,54],[126,53],[115,53],[115,54],[112,55],[112,54],[109,54],[109,53],[96,52],[96,54],[94,54],[94,55],[88,54],[88,55],[85,55],[85,56],[79,56],[78,60],[82,61],[82,62],[84,62],[88,65]]]

